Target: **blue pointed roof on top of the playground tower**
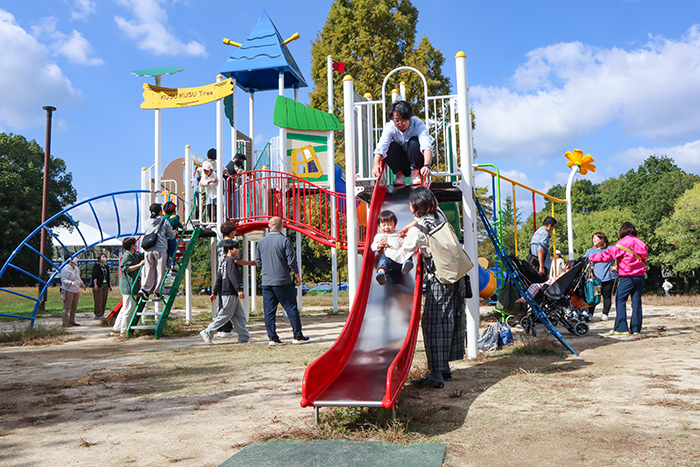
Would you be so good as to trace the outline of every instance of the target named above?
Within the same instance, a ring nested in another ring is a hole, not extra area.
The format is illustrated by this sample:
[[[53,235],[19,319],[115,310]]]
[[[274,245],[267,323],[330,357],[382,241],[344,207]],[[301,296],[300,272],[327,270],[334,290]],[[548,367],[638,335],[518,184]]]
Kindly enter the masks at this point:
[[[284,70],[285,89],[305,88],[301,70],[282,42],[282,36],[263,10],[253,32],[226,60],[221,74],[234,78],[245,91],[258,92],[279,89],[279,72]]]

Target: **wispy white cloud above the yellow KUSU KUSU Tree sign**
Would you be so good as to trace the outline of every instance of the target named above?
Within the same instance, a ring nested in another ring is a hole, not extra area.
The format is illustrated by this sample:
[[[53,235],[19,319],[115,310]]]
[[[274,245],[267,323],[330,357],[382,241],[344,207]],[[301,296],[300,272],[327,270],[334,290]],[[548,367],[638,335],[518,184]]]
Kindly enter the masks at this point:
[[[183,43],[170,32],[168,14],[160,6],[162,0],[118,0],[119,4],[131,10],[136,17],[128,21],[115,16],[117,26],[129,39],[136,41],[138,48],[155,55],[207,55],[202,44],[196,41]]]

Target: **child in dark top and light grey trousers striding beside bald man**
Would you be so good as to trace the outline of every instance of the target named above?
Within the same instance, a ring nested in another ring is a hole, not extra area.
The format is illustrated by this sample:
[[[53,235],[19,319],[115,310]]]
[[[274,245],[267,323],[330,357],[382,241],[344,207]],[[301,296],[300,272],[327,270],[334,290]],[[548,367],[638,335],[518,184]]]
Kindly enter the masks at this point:
[[[243,289],[238,278],[238,271],[234,258],[240,253],[240,247],[236,240],[226,239],[221,242],[226,257],[221,263],[219,270],[216,273],[216,283],[214,290],[209,300],[213,303],[217,297],[221,297],[219,312],[214,321],[212,321],[206,329],[199,334],[207,344],[213,344],[212,336],[224,323],[232,321],[233,326],[238,334],[238,342],[254,342],[255,339],[250,337],[250,332],[246,328],[245,312],[241,304]]]

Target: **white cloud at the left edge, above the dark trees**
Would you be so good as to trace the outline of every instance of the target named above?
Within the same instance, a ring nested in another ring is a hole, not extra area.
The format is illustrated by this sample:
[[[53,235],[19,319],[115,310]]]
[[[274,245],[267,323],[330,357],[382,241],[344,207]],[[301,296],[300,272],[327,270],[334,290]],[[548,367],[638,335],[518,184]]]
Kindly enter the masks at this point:
[[[59,109],[81,99],[48,50],[25,31],[15,17],[0,9],[0,124],[11,129],[40,125],[45,105]]]

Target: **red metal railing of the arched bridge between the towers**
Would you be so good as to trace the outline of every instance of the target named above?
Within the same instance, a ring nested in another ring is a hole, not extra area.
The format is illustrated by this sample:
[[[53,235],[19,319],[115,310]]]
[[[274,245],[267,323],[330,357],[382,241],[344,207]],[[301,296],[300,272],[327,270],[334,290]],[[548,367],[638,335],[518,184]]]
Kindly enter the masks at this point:
[[[278,216],[289,229],[324,245],[347,249],[347,201],[343,193],[285,172],[256,170],[229,177],[228,194],[229,219],[238,224],[239,234],[264,229],[270,218]],[[335,236],[332,219],[337,226]],[[360,226],[361,248],[366,235],[367,227]]]

